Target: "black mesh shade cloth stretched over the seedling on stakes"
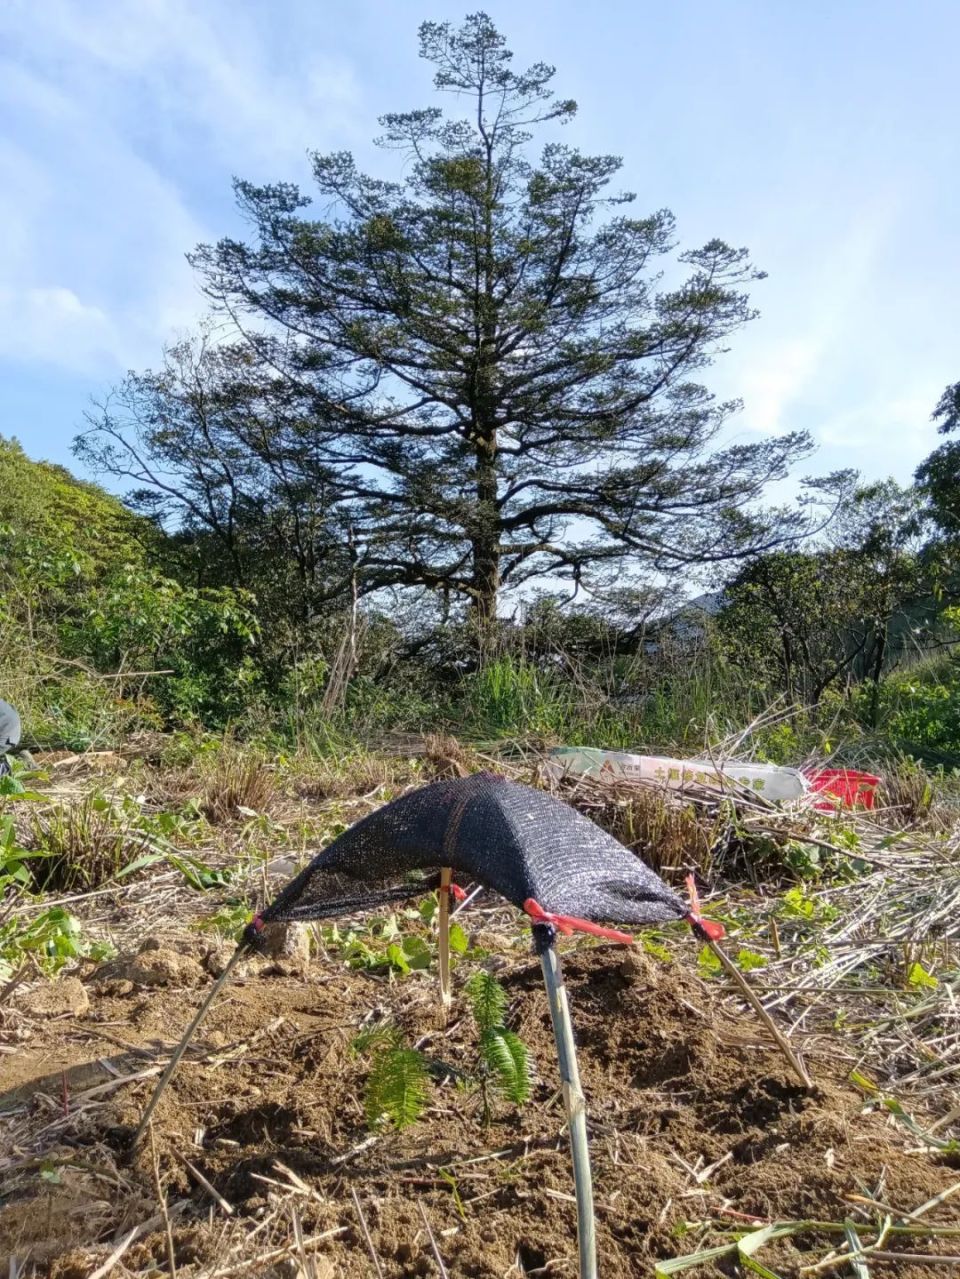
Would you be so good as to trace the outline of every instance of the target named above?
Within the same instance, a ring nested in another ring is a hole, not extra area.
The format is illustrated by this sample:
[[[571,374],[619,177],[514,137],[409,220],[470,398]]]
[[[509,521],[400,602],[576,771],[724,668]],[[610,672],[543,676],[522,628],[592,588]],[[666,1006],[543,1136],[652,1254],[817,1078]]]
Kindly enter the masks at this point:
[[[491,773],[435,781],[378,808],[313,858],[245,934],[422,895],[440,867],[523,908],[596,923],[657,923],[689,907],[612,835],[569,804]]]

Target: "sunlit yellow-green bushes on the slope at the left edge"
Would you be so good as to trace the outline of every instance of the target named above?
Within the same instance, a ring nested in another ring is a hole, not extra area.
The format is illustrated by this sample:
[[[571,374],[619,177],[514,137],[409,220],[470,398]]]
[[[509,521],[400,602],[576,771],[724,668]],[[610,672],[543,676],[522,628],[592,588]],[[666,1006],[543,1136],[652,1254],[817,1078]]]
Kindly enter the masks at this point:
[[[0,689],[27,741],[79,747],[244,709],[257,684],[249,597],[164,577],[153,526],[4,440],[0,517]]]

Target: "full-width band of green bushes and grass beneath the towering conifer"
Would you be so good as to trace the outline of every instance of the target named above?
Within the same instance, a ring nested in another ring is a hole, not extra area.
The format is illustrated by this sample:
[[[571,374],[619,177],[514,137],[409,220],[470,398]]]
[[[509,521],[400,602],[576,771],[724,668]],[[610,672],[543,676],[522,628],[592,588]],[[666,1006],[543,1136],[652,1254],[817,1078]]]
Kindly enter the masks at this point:
[[[35,744],[229,724],[341,751],[450,728],[688,755],[724,744],[775,762],[960,761],[957,616],[934,600],[918,625],[896,606],[891,583],[910,563],[923,577],[901,549],[862,556],[856,592],[833,551],[775,554],[727,587],[717,619],[643,623],[623,608],[617,620],[541,600],[481,652],[467,624],[428,608],[330,610],[277,634],[272,596],[263,611],[251,592],[192,583],[179,542],[3,440],[0,519],[0,696]],[[924,657],[932,645],[940,656]]]

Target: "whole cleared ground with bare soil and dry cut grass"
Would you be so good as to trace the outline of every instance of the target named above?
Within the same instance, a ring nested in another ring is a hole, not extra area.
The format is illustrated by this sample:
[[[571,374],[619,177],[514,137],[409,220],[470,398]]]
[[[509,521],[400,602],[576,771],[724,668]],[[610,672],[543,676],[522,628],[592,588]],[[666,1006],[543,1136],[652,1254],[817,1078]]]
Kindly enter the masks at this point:
[[[396,936],[422,940],[430,958],[433,925],[419,912],[398,912],[386,930],[358,921],[352,934],[341,923],[337,934],[316,931],[309,953],[299,941],[249,961],[162,1099],[150,1141],[129,1152],[243,904],[268,897],[344,822],[476,762],[453,747],[406,747],[343,769],[254,767],[243,756],[208,767],[50,760],[29,816],[26,803],[8,802],[26,845],[27,825],[42,826],[43,813],[107,797],[111,829],[124,834],[120,861],[153,858],[96,888],[72,888],[61,874],[59,889],[51,881],[42,898],[14,907],[29,922],[70,898],[83,938],[114,953],[68,964],[74,981],[51,982],[24,962],[17,987],[0,995],[0,1255],[13,1259],[10,1273],[575,1275],[539,966],[522,918],[488,898],[458,920],[467,950],[449,1018],[435,962],[403,973],[386,961]],[[533,776],[530,762],[510,767]],[[623,834],[629,796],[574,798]],[[894,835],[894,815],[825,834],[823,824],[740,806],[739,843],[727,840],[722,861],[724,803],[699,797],[689,821],[656,817],[672,822],[667,874],[684,868],[684,839],[688,863],[712,849],[722,889],[712,913],[726,920],[730,953],[790,1032],[817,1091],[791,1076],[689,931],[647,934],[647,946],[631,950],[564,943],[601,1274],[652,1274],[713,1247],[726,1251],[689,1273],[747,1274],[736,1251],[744,1236],[753,1236],[745,1251],[758,1244],[759,1274],[948,1273],[946,1259],[960,1255],[952,835],[943,822],[938,834]],[[654,816],[631,812],[638,843]],[[684,821],[685,834],[674,829]],[[782,865],[775,875],[761,840],[799,856],[817,847],[804,838],[823,844],[823,877]],[[178,856],[189,865],[170,861]],[[496,1102],[486,1124],[469,1083],[476,1032],[463,996],[483,966],[505,986],[509,1026],[536,1065],[530,1101]],[[352,1046],[386,1019],[432,1063],[428,1106],[401,1132],[368,1127],[371,1062]],[[790,1229],[758,1239],[773,1223]],[[860,1246],[873,1252],[858,1273],[841,1253]]]

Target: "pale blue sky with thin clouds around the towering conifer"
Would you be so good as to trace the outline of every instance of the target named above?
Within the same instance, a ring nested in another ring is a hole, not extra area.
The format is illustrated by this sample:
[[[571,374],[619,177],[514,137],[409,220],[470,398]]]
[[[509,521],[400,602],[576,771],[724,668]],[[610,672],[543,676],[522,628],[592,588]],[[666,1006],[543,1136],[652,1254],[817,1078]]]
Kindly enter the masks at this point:
[[[762,316],[708,375],[736,432],[909,478],[960,377],[956,0],[488,3],[555,63],[568,137],[624,156],[681,247],[748,246]],[[4,0],[0,434],[70,463],[91,396],[202,313],[184,253],[236,233],[230,178],[308,183],[431,101],[427,0]]]

